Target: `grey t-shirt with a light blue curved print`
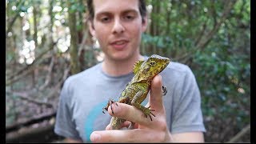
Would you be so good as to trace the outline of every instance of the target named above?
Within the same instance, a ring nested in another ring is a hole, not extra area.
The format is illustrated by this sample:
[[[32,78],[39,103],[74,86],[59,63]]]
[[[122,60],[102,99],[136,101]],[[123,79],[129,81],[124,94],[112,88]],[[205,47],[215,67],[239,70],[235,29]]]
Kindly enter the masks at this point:
[[[167,124],[171,134],[203,131],[201,98],[198,84],[190,68],[170,62],[161,73],[167,94],[163,97]],[[102,71],[102,62],[66,79],[60,94],[54,132],[66,138],[90,142],[94,130],[105,130],[110,114],[102,108],[108,100],[118,100],[134,74],[118,77]],[[146,105],[148,97],[142,102]]]

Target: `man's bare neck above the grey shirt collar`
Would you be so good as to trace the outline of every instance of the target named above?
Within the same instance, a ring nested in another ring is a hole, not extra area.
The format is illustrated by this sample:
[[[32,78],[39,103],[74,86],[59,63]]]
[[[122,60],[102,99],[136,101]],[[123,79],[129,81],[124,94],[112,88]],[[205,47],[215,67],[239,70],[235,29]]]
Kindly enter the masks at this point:
[[[129,74],[133,70],[134,62],[137,62],[138,60],[143,60],[141,54],[134,55],[134,57],[125,60],[105,58],[102,62],[102,70],[106,72],[106,74],[112,76]]]

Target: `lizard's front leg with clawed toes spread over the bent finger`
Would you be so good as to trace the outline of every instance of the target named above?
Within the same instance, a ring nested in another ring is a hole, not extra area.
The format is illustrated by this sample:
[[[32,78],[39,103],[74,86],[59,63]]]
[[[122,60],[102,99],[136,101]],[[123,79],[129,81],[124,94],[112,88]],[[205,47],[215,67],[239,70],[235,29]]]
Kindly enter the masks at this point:
[[[139,110],[142,110],[142,112],[146,115],[146,118],[147,118],[147,116],[149,116],[151,121],[152,121],[152,118],[151,118],[150,114],[152,114],[155,117],[155,115],[151,112],[151,111],[154,111],[154,110],[150,110],[150,106],[145,107],[145,106],[141,105],[142,101],[144,101],[144,99],[146,98],[146,94],[147,93],[145,93],[145,92],[143,93],[142,90],[138,91],[138,93],[136,93],[134,95],[134,98],[131,101],[131,105],[137,107]]]

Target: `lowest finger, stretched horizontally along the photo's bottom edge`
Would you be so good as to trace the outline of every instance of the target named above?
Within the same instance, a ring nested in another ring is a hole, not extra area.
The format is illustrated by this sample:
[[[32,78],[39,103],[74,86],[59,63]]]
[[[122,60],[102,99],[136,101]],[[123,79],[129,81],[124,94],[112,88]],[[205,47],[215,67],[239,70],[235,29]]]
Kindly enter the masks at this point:
[[[146,130],[102,130],[90,134],[92,142],[154,142],[158,134],[148,134]]]

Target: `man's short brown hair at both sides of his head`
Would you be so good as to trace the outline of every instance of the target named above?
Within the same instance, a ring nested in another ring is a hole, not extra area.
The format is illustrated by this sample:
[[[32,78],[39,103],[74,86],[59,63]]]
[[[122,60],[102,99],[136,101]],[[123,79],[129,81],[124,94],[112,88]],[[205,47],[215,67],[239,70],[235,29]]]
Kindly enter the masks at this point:
[[[146,3],[145,0],[138,0],[138,10],[142,16],[142,22],[145,21],[145,17],[146,17]],[[93,0],[87,0],[87,8],[89,11],[89,20],[93,20],[94,19],[94,6],[93,6]]]

